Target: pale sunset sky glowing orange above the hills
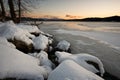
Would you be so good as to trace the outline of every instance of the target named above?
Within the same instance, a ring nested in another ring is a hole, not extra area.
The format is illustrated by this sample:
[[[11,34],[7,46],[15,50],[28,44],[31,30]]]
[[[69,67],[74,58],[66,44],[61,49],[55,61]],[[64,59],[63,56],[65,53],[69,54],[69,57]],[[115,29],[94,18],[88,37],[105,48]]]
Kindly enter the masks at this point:
[[[79,19],[120,16],[120,0],[42,0],[35,3],[31,17]]]

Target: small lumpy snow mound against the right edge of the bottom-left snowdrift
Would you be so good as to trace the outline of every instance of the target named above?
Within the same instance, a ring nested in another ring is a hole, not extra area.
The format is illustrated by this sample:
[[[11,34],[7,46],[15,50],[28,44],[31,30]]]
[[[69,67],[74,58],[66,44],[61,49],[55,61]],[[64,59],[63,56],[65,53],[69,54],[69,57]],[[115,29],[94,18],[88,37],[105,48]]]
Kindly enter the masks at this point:
[[[41,51],[40,53],[30,53],[30,55],[38,58],[40,65],[49,66],[52,69],[53,63],[48,59],[48,54],[45,51]]]

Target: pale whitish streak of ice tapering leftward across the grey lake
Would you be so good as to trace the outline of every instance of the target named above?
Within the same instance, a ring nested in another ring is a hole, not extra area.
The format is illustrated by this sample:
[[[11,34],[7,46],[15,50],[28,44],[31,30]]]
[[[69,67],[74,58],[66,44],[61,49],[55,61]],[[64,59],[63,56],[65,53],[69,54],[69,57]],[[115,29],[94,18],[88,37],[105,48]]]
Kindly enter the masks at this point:
[[[91,31],[76,31],[76,30],[64,30],[58,29],[56,30],[59,34],[71,34],[74,36],[84,36],[93,40],[97,40],[100,43],[104,43],[109,45],[112,48],[120,50],[120,36],[119,33],[110,33],[110,32],[91,32]]]

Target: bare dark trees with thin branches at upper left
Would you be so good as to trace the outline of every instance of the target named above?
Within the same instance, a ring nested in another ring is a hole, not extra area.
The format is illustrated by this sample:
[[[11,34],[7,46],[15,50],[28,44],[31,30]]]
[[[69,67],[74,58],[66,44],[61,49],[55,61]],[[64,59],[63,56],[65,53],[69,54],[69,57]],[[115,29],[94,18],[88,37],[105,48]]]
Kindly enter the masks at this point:
[[[34,7],[28,6],[34,4],[34,1],[39,0],[0,0],[0,20],[5,21],[10,18],[15,23],[19,23],[21,16],[25,12],[30,12],[30,8]]]

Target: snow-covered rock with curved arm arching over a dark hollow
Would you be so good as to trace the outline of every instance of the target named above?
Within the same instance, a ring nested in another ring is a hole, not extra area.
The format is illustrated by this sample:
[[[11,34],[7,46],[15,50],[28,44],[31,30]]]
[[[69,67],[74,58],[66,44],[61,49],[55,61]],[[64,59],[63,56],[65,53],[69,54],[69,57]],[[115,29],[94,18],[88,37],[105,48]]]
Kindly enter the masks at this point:
[[[58,62],[61,63],[64,60],[73,60],[82,67],[86,68],[87,70],[93,72],[93,73],[98,73],[100,72],[101,76],[104,74],[104,67],[102,62],[95,56],[89,55],[89,54],[70,54],[67,52],[56,52],[55,55],[58,58]],[[88,63],[93,62],[96,63],[99,67],[99,70],[95,68],[95,66],[91,65]]]

